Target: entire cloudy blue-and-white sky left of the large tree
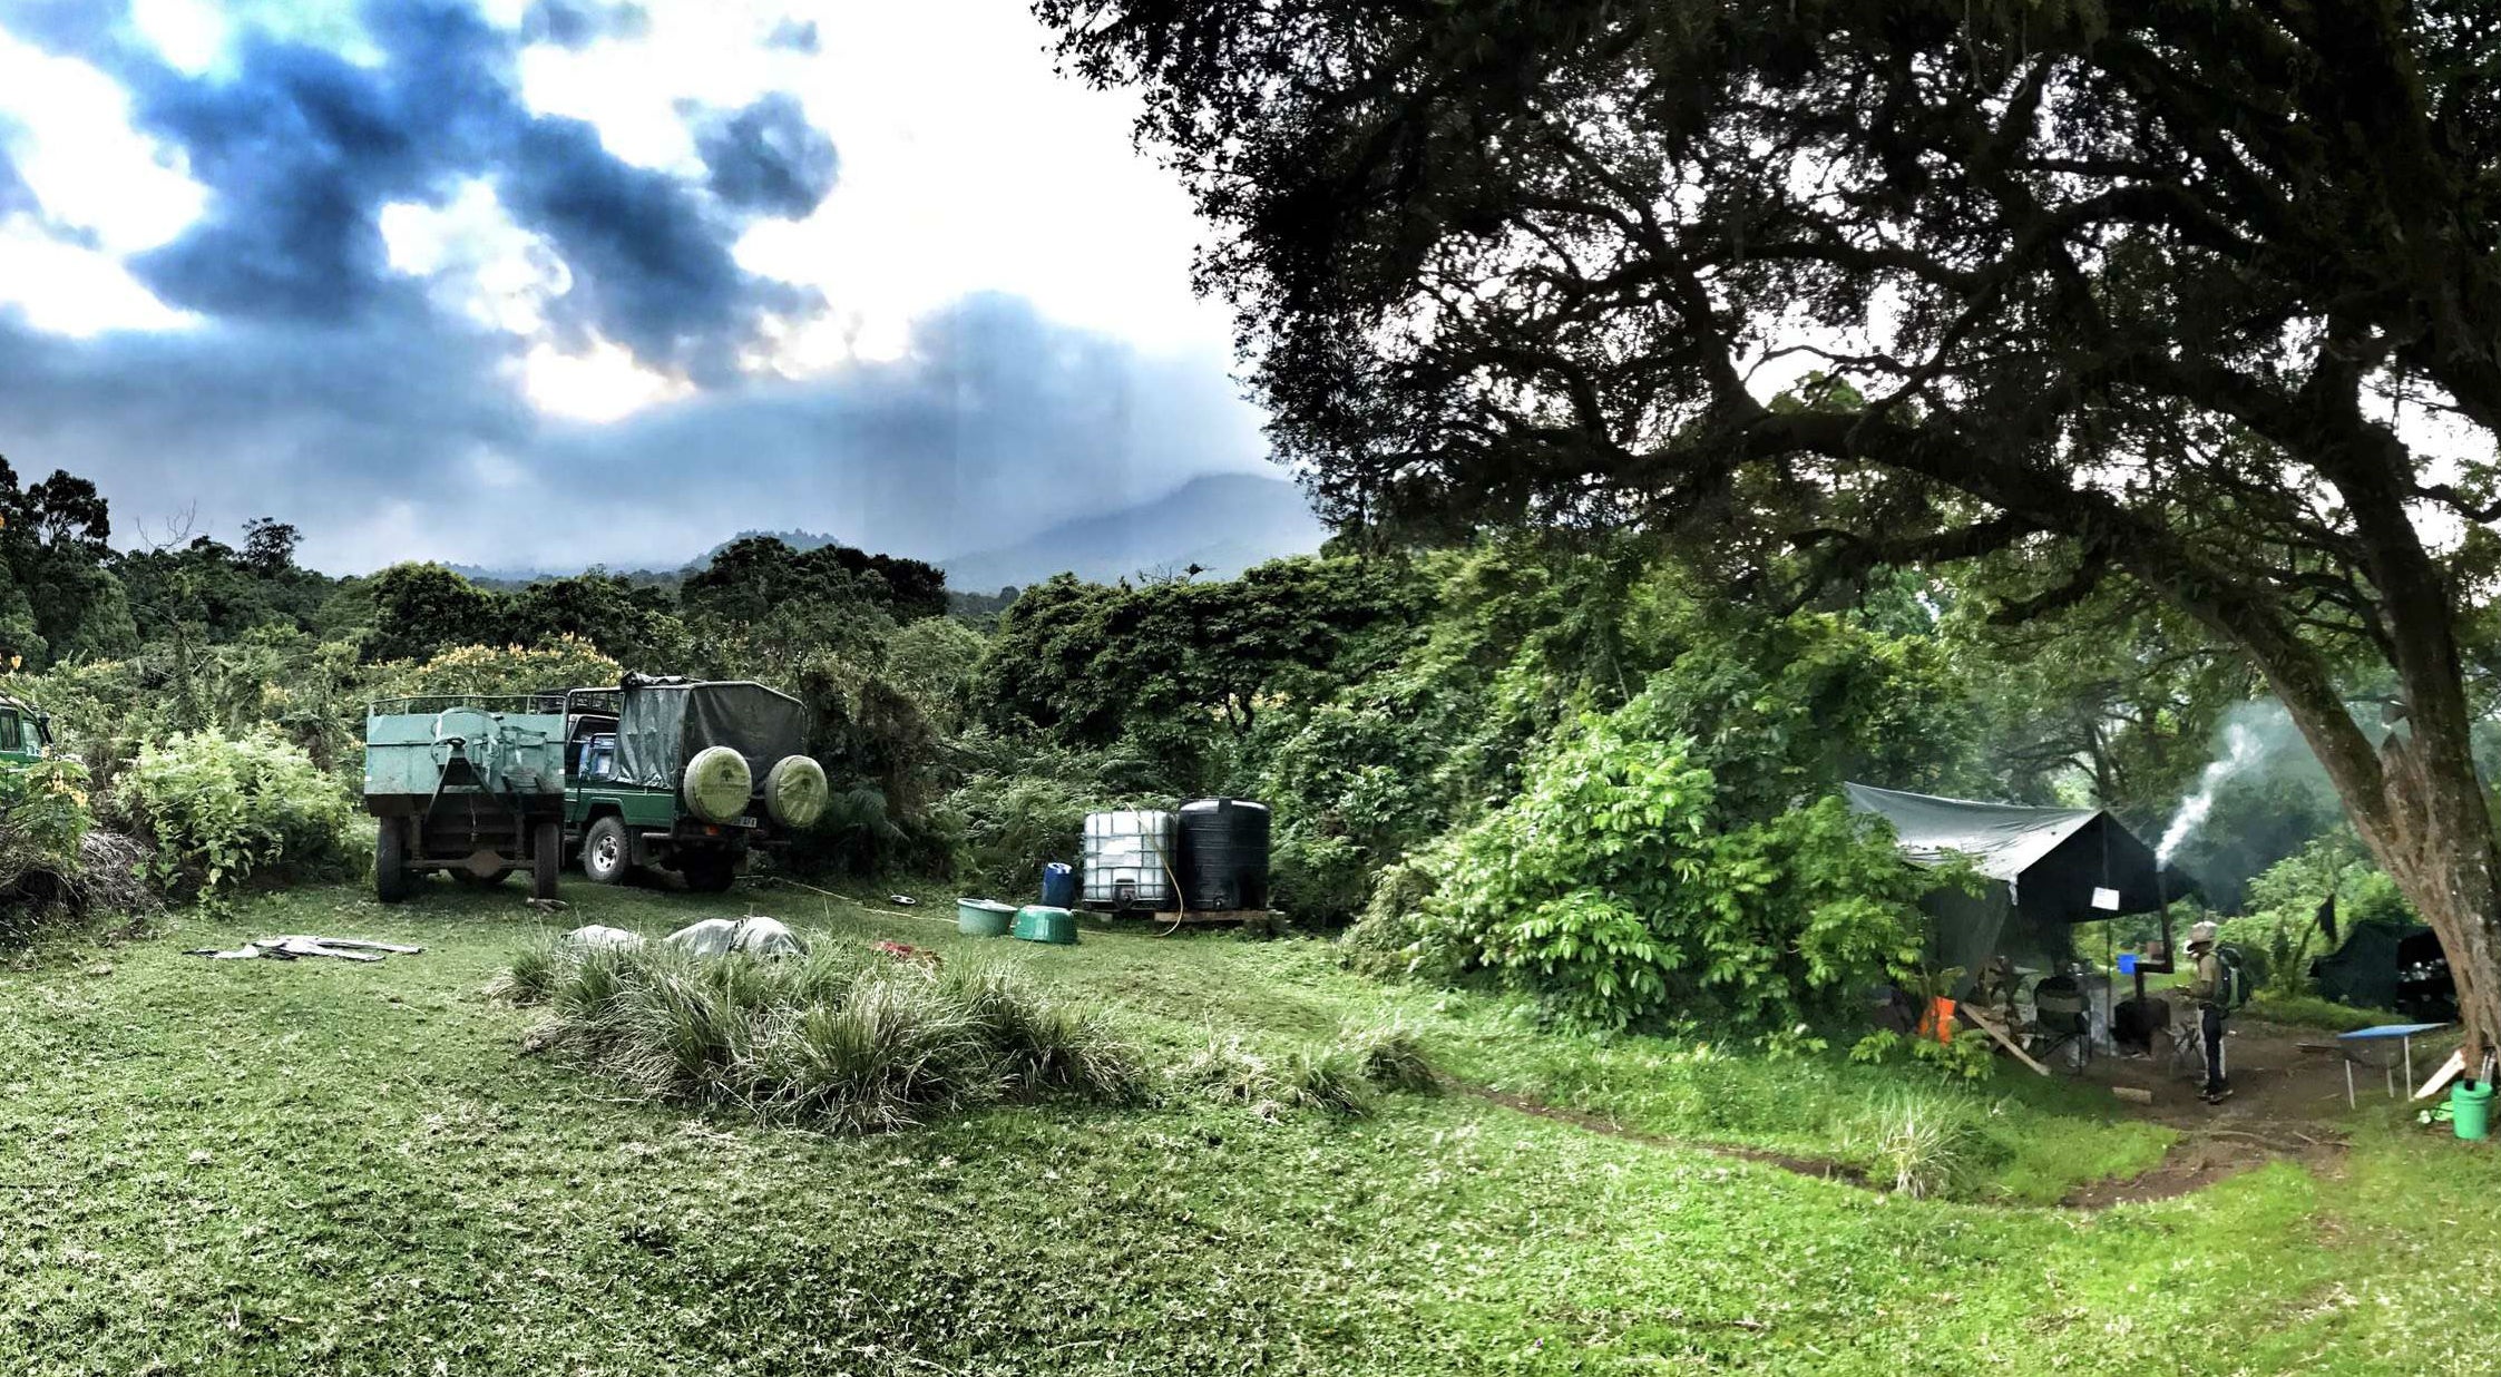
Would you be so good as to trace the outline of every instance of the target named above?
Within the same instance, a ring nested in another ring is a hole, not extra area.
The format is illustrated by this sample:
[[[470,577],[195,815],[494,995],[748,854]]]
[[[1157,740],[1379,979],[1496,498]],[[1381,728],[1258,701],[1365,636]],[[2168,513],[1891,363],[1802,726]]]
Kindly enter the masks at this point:
[[[335,572],[1263,470],[1130,112],[1018,0],[0,0],[0,455]]]

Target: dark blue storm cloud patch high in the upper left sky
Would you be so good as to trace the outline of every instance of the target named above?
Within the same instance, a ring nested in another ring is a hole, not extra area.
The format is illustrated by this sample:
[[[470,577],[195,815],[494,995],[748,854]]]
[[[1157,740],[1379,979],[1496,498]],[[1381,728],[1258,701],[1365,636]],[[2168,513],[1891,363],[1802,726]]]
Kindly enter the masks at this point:
[[[193,230],[133,265],[150,290],[230,320],[363,320],[415,290],[390,270],[383,207],[440,205],[485,177],[565,260],[573,290],[553,315],[575,340],[595,330],[653,367],[718,382],[765,317],[820,305],[733,257],[745,215],[830,185],[833,145],[795,102],[705,130],[730,167],[713,177],[735,192],[705,195],[618,160],[590,125],[528,112],[515,37],[475,10],[375,2],[365,30],[383,52],[370,67],[263,35],[210,77],[115,57],[140,125],[183,147],[210,190]]]

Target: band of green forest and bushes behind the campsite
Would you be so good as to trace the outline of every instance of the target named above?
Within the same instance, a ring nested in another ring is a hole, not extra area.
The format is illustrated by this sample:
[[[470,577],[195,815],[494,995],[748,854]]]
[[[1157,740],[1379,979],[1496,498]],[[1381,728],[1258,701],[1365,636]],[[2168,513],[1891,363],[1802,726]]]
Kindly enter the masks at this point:
[[[220,882],[353,870],[373,697],[755,677],[810,705],[835,780],[800,867],[1023,895],[1088,810],[1258,797],[1293,920],[1371,912],[1388,965],[1506,972],[1596,1022],[1706,1000],[1768,1025],[1908,960],[1901,870],[1841,815],[1843,780],[2158,830],[2256,692],[2118,595],[2006,627],[1988,562],[1831,580],[1651,535],[1063,575],[1000,607],[950,605],[918,560],[775,537],[675,582],[498,590],[443,565],[305,570],[275,520],[115,550],[70,475],[0,470],[0,515],[8,687],[178,890],[208,887],[205,850],[233,857]],[[258,837],[255,815],[275,817]],[[2233,905],[2311,847],[2318,880],[2273,895],[2291,912],[2366,870],[2321,862],[2336,827],[2316,780],[2261,770],[2183,860]]]

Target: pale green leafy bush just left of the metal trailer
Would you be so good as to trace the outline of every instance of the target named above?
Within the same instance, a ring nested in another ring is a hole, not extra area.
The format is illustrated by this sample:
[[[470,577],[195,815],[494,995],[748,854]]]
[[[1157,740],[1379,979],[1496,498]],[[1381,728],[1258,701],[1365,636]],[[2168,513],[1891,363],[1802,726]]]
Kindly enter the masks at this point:
[[[355,827],[348,785],[268,725],[143,745],[120,802],[155,840],[158,875],[178,892],[340,875],[370,837]]]

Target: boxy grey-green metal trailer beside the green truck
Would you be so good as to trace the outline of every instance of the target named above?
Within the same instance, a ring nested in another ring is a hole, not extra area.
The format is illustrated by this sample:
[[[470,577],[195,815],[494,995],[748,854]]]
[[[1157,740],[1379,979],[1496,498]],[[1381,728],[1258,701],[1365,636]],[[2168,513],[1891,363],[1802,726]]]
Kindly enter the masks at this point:
[[[365,710],[373,892],[405,900],[428,870],[500,885],[528,867],[555,897],[565,862],[565,697],[425,695]]]

